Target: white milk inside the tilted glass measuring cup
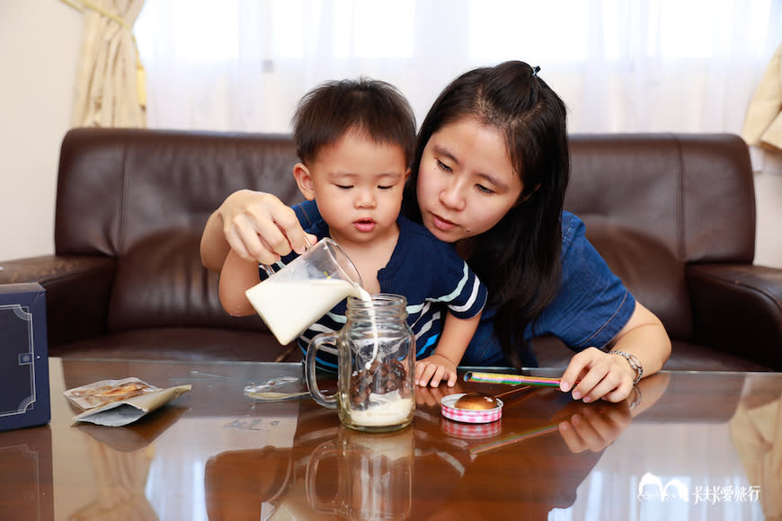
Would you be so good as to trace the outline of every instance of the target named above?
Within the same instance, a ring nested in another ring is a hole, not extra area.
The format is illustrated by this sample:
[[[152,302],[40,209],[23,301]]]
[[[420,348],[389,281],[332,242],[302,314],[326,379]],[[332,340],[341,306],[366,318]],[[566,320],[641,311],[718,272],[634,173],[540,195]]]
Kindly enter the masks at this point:
[[[336,278],[273,281],[256,284],[245,295],[282,345],[295,340],[334,305],[348,296],[369,297],[363,288]],[[371,297],[369,297],[371,298]]]

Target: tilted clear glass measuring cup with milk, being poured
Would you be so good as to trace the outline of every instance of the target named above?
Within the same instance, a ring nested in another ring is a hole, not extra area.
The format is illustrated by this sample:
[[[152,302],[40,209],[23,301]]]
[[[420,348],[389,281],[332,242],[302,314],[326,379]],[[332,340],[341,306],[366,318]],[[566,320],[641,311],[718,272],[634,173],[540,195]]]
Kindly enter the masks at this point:
[[[328,238],[248,289],[245,295],[282,345],[296,340],[344,298],[369,298],[361,287],[358,269]]]

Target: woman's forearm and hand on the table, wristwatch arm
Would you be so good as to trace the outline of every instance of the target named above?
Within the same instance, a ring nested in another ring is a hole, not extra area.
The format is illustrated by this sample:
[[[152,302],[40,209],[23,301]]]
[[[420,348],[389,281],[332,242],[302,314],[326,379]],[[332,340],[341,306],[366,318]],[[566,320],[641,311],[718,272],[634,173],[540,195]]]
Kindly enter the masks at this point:
[[[671,356],[671,339],[654,313],[640,303],[630,320],[609,343],[611,351],[632,355],[644,369],[644,376],[653,375]],[[624,357],[589,348],[576,354],[562,375],[560,389],[573,389],[573,398],[584,402],[603,399],[609,402],[625,400],[633,389],[637,374]]]

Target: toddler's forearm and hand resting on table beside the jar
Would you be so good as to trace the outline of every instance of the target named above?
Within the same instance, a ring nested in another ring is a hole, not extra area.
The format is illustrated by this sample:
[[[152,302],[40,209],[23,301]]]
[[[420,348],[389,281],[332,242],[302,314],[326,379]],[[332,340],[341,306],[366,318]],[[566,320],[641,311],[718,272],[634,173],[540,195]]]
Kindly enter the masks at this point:
[[[434,349],[431,356],[415,362],[415,383],[422,387],[427,384],[437,387],[441,381],[446,381],[449,387],[453,387],[457,381],[457,366],[480,320],[481,313],[467,319],[448,313],[437,349]]]

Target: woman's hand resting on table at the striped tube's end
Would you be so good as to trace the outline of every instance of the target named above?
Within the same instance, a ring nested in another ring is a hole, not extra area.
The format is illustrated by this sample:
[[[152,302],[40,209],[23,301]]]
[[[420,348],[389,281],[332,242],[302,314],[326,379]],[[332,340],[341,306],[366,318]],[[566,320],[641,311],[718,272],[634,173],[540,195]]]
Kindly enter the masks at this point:
[[[625,358],[588,348],[570,360],[559,388],[564,393],[573,389],[573,400],[584,403],[600,399],[621,402],[630,395],[634,378],[635,371]]]

